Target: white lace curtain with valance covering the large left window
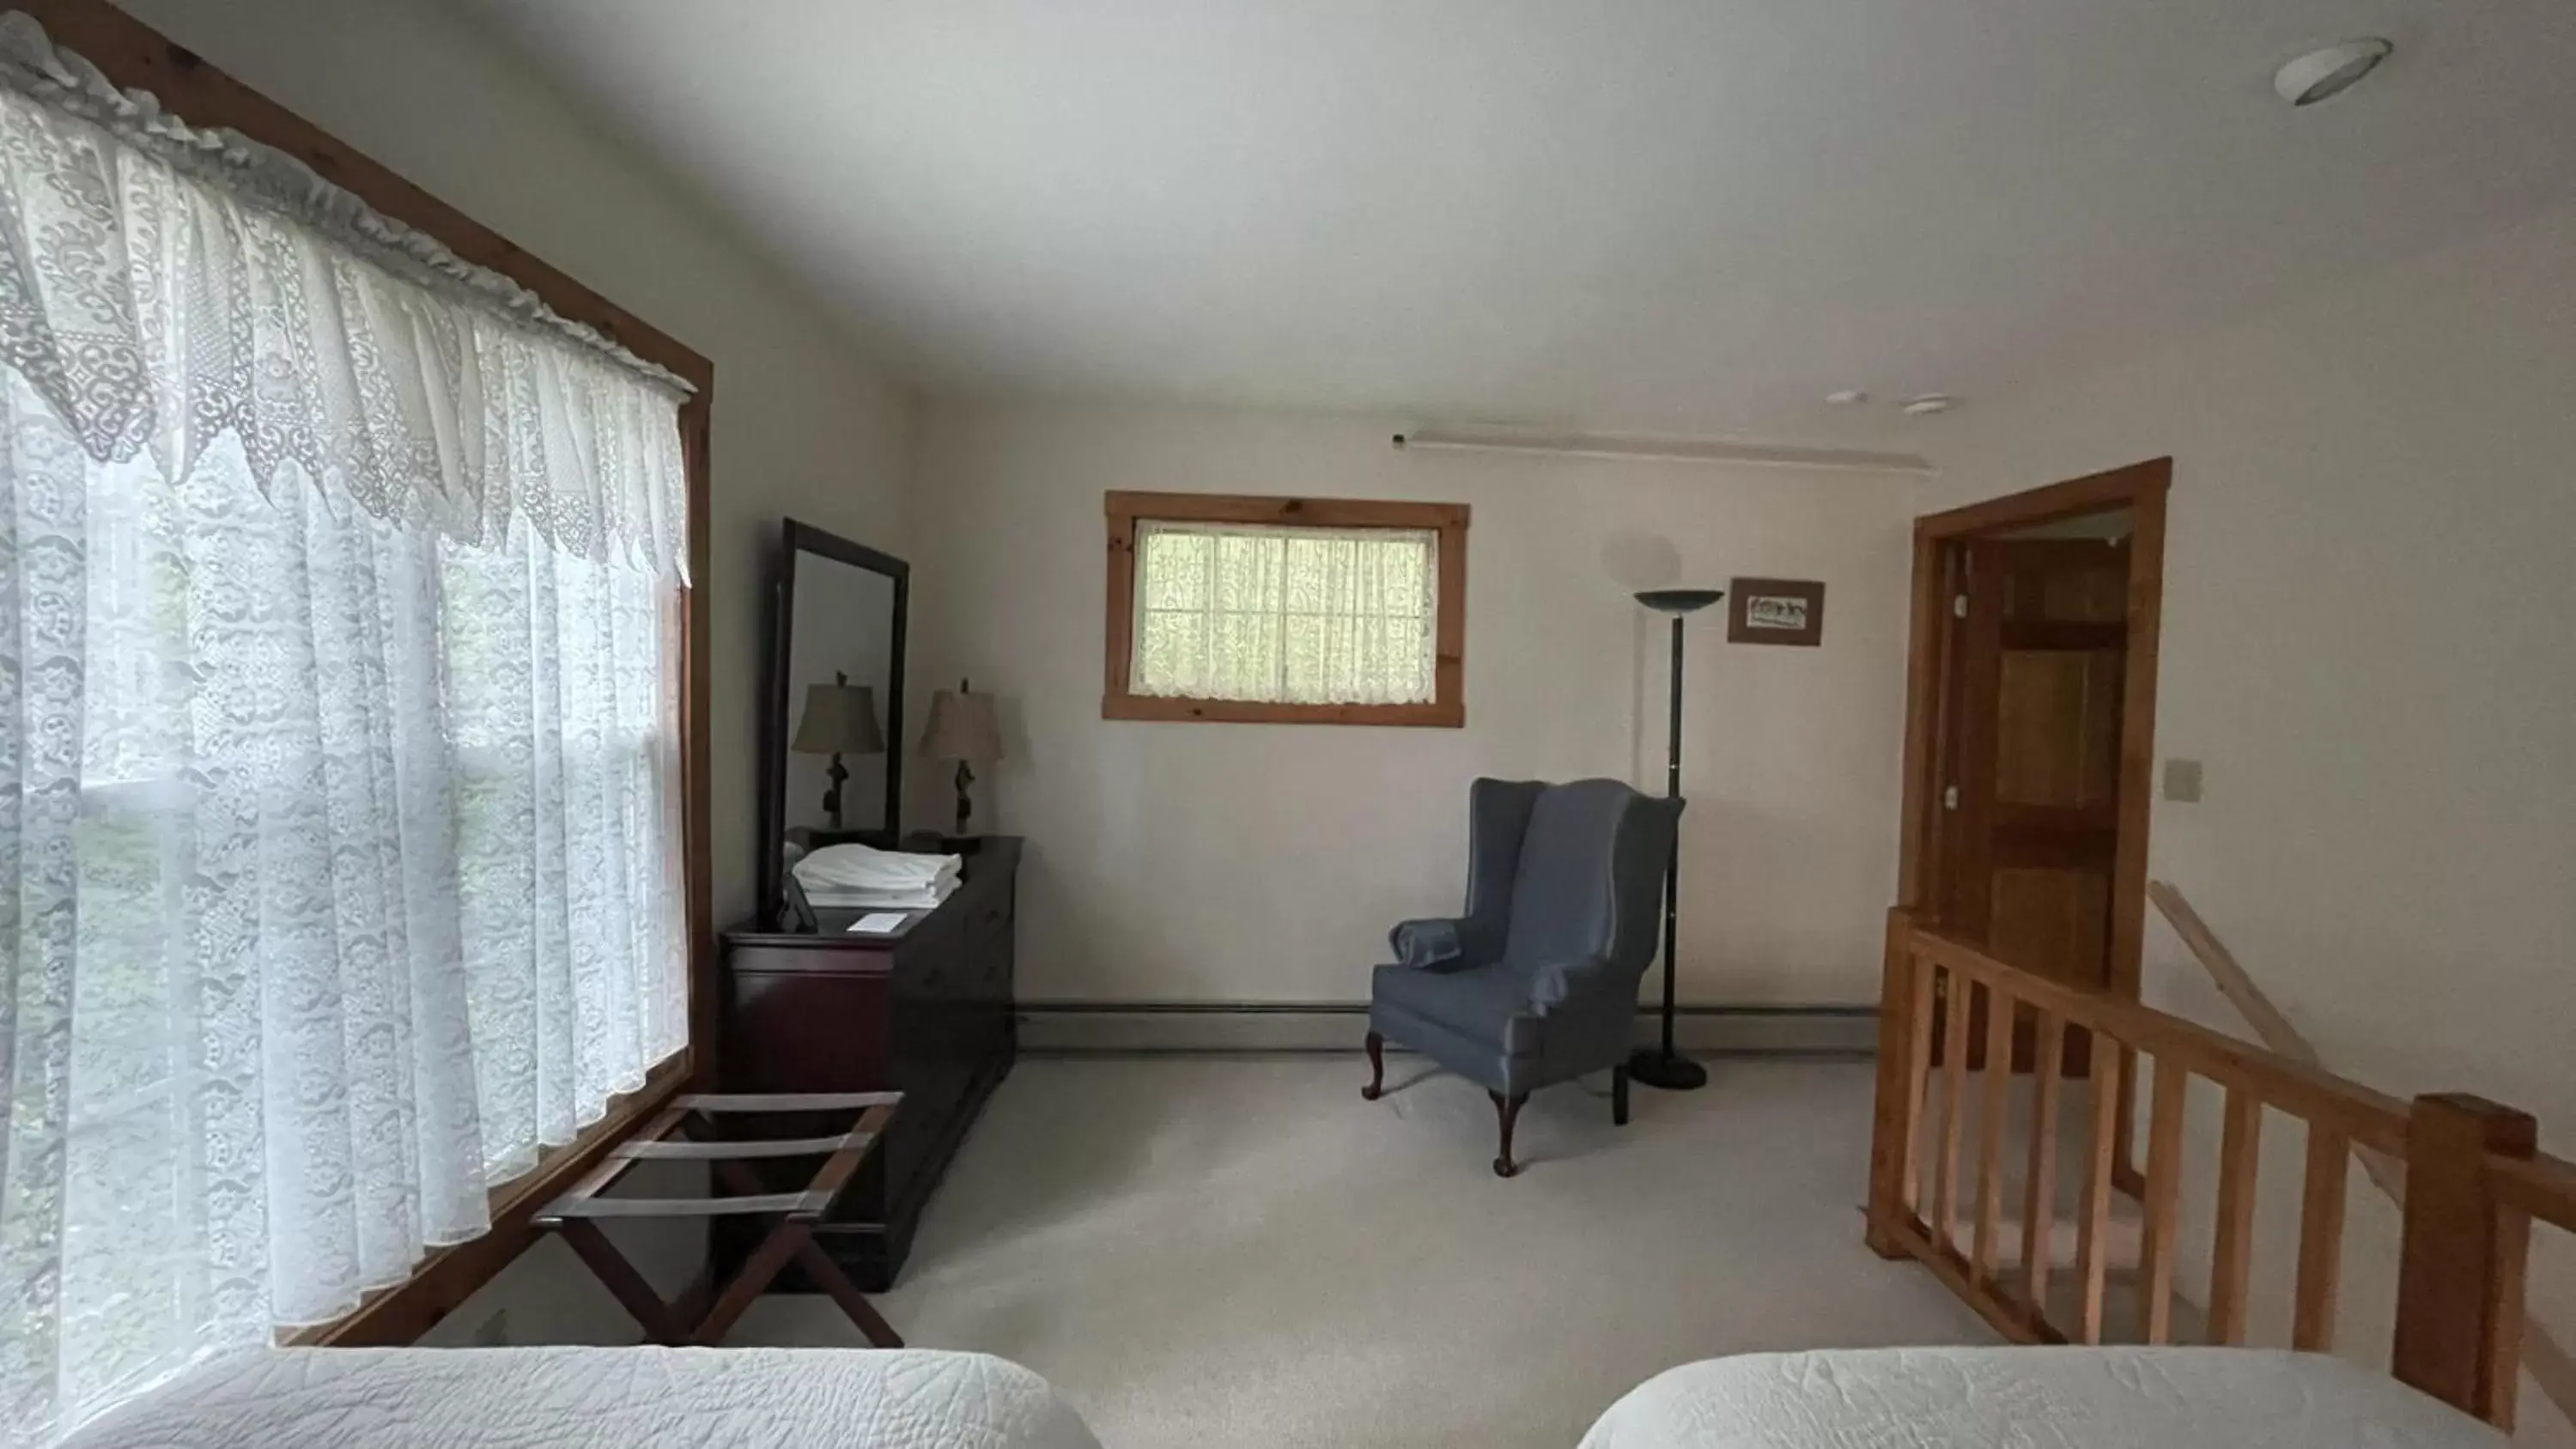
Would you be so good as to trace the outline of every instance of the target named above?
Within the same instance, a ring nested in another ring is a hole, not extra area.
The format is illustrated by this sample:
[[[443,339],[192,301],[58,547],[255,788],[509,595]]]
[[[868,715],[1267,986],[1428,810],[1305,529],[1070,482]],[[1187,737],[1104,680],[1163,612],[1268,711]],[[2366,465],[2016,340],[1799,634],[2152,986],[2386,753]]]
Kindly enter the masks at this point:
[[[31,1441],[477,1235],[685,1045],[685,515],[659,378],[345,196],[232,185],[273,157],[18,21],[0,1423]]]

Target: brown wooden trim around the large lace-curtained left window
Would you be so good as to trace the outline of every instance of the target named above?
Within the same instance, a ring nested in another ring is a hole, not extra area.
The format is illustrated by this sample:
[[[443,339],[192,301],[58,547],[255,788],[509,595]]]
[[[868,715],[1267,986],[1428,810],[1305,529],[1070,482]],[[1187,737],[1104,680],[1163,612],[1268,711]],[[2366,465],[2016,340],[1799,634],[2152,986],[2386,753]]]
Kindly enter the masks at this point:
[[[708,574],[708,422],[716,399],[716,365],[106,0],[8,0],[8,8],[33,15],[57,44],[82,54],[116,88],[149,90],[191,126],[227,126],[296,157],[376,211],[417,226],[466,263],[492,268],[526,286],[562,317],[598,327],[634,355],[670,368],[698,389],[680,404],[690,577],[690,587],[680,595],[680,857],[688,898],[688,1048],[647,1073],[639,1091],[613,1099],[608,1114],[580,1138],[544,1153],[533,1171],[495,1186],[489,1233],[433,1251],[412,1277],[368,1295],[348,1318],[289,1338],[332,1346],[410,1343],[536,1241],[531,1217],[564,1184],[587,1171],[611,1145],[634,1135],[675,1091],[714,1081],[716,934],[706,816],[708,610],[701,589]]]

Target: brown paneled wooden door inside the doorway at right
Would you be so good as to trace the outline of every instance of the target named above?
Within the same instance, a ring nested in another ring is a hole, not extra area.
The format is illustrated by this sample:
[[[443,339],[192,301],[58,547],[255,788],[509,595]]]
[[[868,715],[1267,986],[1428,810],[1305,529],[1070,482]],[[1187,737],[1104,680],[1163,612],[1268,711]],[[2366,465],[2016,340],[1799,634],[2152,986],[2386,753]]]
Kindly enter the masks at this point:
[[[1953,571],[1935,906],[2069,986],[2110,986],[2128,561],[2128,540],[1968,540]]]

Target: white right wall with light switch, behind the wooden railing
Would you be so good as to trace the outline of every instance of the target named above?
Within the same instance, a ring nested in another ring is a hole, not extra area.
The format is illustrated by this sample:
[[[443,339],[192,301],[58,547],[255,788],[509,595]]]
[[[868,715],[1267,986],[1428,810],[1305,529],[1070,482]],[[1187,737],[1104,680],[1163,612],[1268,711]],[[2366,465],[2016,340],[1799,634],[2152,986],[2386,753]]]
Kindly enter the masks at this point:
[[[2483,1091],[2576,1150],[2576,211],[1960,412],[1927,502],[2161,453],[2156,739],[2208,793],[2156,806],[2154,872],[2336,1071]],[[2161,927],[2146,996],[2244,1032]],[[2213,1099],[2192,1125],[2213,1150]],[[2295,1153],[2275,1120],[2275,1331]],[[2566,1243],[2540,1238],[2571,1341]],[[2385,1361],[2396,1220],[2367,1189],[2347,1251],[2352,1346]]]

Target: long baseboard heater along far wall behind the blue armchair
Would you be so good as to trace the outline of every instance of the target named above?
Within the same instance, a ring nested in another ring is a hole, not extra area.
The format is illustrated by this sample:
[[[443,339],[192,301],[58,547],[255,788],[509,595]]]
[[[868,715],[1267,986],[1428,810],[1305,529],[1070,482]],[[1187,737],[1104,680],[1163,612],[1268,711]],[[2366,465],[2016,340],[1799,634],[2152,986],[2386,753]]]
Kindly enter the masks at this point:
[[[1638,1009],[1636,1042],[1659,1017]],[[1355,1053],[1365,1001],[1020,1001],[1033,1055]],[[1674,1045],[1692,1055],[1868,1058],[1878,1006],[1680,1006]]]

